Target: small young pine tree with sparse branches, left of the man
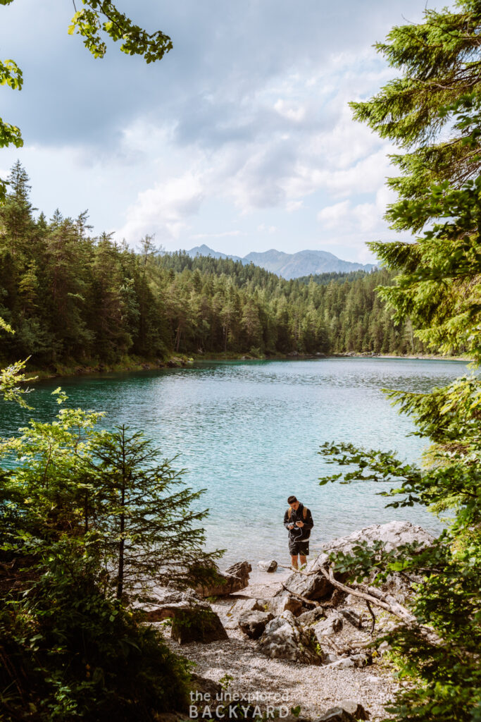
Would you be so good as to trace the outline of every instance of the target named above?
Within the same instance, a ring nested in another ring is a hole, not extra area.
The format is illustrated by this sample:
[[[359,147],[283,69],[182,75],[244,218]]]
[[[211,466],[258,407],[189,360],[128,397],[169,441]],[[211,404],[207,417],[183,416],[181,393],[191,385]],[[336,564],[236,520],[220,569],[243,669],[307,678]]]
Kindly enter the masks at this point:
[[[87,469],[97,498],[93,523],[107,567],[115,570],[117,598],[167,583],[195,586],[215,576],[220,552],[204,551],[199,526],[207,515],[198,510],[203,490],[185,487],[182,471],[125,426],[96,435],[93,443],[95,463]]]

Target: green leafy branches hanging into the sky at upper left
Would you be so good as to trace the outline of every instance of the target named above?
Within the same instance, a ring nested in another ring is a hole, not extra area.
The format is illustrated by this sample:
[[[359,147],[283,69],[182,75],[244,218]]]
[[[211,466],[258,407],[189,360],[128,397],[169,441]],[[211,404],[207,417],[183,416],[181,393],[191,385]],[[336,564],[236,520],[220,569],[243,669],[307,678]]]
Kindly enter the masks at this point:
[[[10,5],[14,0],[0,0]],[[172,40],[161,30],[147,32],[120,12],[110,0],[81,0],[83,7],[76,9],[69,26],[69,35],[81,35],[84,45],[95,58],[107,52],[107,38],[120,41],[120,50],[127,55],[139,55],[146,63],[161,60],[172,49]],[[0,61],[0,85],[22,90],[22,71],[13,60]],[[22,134],[17,126],[0,118],[0,148],[14,145],[22,147]],[[0,179],[0,204],[5,200],[7,182]]]

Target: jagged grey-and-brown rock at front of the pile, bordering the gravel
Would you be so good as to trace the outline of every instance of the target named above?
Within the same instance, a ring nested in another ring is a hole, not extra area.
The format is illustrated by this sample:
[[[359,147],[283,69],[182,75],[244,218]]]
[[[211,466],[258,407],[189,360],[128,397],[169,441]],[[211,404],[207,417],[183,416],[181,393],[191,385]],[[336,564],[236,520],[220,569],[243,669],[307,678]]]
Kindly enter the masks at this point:
[[[257,643],[265,656],[288,659],[301,664],[322,664],[322,651],[312,630],[305,629],[292,612],[283,612],[268,622]]]

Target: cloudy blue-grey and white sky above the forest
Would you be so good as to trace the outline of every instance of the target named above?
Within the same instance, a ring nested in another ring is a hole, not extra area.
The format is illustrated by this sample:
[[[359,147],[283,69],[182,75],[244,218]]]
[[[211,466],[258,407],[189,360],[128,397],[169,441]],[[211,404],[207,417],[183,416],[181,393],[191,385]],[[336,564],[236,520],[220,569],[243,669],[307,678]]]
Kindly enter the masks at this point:
[[[89,209],[94,232],[167,250],[206,243],[244,256],[277,248],[372,260],[394,234],[389,144],[348,102],[392,77],[372,48],[418,22],[425,0],[118,0],[174,48],[147,66],[109,46],[95,60],[67,34],[71,0],[0,6],[0,57],[24,72],[0,115],[25,147],[32,201],[49,217]],[[433,6],[431,3],[430,6]]]

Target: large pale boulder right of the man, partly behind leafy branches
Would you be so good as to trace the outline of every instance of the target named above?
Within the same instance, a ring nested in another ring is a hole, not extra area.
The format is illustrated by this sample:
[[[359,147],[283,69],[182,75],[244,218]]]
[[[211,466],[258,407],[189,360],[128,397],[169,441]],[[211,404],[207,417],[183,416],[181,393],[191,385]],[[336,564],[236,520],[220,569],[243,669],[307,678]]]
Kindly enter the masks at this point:
[[[386,524],[373,524],[366,526],[360,531],[353,531],[353,534],[341,536],[340,539],[334,539],[328,542],[322,549],[319,556],[309,562],[306,572],[315,572],[322,565],[328,562],[329,555],[332,552],[343,552],[344,554],[352,552],[363,541],[374,543],[374,541],[382,541],[387,551],[400,547],[401,544],[412,544],[418,541],[421,547],[428,547],[433,543],[433,536],[420,526],[410,523],[409,521],[389,521]],[[343,581],[345,575],[335,574],[337,580]],[[320,599],[327,594],[332,593],[332,584],[322,572],[319,570],[317,574],[306,576],[294,572],[286,580],[286,586],[292,591],[307,597],[307,599]],[[286,591],[279,591],[275,596],[283,596]]]

